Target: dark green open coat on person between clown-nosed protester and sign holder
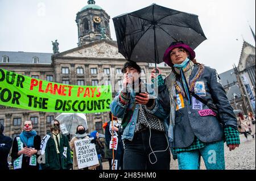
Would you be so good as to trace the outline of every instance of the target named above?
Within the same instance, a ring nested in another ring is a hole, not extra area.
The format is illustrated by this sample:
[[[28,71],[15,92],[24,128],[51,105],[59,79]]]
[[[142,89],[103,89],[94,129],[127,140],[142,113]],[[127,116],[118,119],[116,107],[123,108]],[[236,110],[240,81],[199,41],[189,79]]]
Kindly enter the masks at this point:
[[[60,149],[59,149],[60,154],[59,155],[60,155],[61,163],[57,155],[55,141],[51,133],[49,134],[49,136],[51,137],[47,141],[46,149],[45,149],[46,163],[42,164],[42,169],[67,170],[67,169],[71,169],[73,166],[68,137],[65,136],[64,134],[61,134],[61,133],[59,134],[60,134]]]

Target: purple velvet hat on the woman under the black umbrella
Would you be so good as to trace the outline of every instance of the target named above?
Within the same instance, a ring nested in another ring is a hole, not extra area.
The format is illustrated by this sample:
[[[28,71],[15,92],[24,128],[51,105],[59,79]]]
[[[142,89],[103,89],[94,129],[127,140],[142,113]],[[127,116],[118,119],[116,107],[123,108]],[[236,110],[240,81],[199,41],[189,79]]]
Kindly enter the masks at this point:
[[[190,60],[194,60],[194,58],[196,57],[196,53],[194,52],[194,50],[191,47],[189,47],[188,45],[184,44],[182,41],[173,42],[170,45],[170,47],[166,49],[166,52],[164,53],[163,61],[166,62],[167,65],[169,65],[169,66],[173,65],[171,58],[170,58],[170,52],[174,48],[178,48],[178,47],[182,47],[188,51]]]

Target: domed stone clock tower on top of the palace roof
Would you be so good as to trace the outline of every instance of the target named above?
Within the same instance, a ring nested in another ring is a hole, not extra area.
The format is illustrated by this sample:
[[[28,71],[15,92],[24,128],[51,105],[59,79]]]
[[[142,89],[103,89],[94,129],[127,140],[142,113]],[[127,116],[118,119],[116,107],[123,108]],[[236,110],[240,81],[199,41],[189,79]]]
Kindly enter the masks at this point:
[[[89,0],[76,15],[79,46],[101,39],[111,39],[109,28],[110,16],[94,0]]]

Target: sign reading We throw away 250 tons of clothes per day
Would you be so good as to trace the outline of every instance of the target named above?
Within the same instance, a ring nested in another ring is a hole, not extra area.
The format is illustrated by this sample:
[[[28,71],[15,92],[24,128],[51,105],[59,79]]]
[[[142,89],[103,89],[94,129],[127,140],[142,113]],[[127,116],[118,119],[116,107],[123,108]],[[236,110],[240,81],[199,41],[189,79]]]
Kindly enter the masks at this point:
[[[75,149],[79,169],[84,169],[85,167],[99,164],[95,144],[90,143],[92,140],[93,138],[75,141]]]

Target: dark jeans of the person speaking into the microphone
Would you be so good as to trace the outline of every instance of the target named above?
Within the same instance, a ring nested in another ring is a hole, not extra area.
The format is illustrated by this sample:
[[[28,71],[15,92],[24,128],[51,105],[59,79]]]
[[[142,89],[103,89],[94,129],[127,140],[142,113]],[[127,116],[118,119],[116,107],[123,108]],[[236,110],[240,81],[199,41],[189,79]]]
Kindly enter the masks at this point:
[[[150,141],[150,143],[149,143]],[[154,154],[152,153],[155,152]],[[164,132],[151,130],[135,133],[133,141],[125,140],[125,153],[123,155],[124,170],[170,170],[170,149]],[[167,149],[167,150],[166,150]],[[159,152],[159,150],[161,152]],[[166,151],[162,151],[166,150]],[[150,155],[150,159],[148,158]],[[154,164],[152,164],[154,163]]]

